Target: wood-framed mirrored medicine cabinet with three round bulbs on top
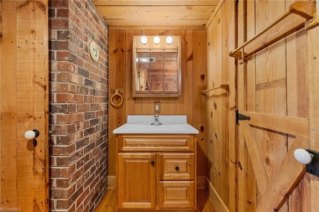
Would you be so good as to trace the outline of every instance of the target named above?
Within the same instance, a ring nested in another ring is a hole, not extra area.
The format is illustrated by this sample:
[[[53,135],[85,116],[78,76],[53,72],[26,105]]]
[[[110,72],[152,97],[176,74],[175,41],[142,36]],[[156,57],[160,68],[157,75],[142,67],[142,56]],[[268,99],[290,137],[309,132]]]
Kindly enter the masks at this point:
[[[180,36],[133,36],[133,50],[133,97],[180,97]]]

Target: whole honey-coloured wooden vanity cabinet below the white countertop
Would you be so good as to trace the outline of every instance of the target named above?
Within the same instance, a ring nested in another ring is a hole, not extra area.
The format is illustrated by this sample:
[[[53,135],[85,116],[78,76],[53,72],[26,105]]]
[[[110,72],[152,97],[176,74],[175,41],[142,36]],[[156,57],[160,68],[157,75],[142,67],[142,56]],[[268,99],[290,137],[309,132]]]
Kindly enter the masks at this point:
[[[117,210],[196,209],[196,136],[116,135]]]

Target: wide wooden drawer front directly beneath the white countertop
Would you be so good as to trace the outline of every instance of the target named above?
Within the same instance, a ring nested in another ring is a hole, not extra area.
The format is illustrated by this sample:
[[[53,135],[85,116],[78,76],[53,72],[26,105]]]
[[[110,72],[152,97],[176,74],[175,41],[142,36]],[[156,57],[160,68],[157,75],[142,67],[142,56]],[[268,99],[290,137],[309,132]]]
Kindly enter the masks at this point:
[[[125,134],[118,136],[118,150],[121,151],[194,151],[194,136],[157,134]]]

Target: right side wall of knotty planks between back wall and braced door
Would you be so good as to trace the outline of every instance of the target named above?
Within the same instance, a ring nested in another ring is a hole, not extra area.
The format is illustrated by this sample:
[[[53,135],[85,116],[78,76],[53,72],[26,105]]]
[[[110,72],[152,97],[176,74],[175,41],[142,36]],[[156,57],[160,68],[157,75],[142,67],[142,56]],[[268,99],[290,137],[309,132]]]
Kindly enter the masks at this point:
[[[207,87],[228,84],[229,91],[210,91],[206,100],[206,191],[216,211],[222,212],[236,210],[237,91],[235,60],[228,56],[235,46],[235,2],[220,4],[207,29]]]

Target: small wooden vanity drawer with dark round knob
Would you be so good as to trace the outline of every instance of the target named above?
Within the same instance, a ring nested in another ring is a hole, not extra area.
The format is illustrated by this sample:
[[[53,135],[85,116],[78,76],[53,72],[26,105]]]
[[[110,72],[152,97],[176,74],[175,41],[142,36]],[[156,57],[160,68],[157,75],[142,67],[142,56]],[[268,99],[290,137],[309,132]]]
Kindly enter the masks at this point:
[[[194,180],[194,153],[159,154],[160,180]]]

